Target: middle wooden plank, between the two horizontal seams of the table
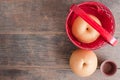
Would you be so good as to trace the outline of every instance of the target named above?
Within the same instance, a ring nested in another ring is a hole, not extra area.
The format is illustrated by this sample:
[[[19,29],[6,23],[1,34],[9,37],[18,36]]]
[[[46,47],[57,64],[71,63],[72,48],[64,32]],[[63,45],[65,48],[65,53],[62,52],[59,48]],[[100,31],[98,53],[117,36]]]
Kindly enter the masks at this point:
[[[99,61],[110,59],[120,68],[119,45],[95,50]],[[69,68],[75,49],[66,34],[4,34],[0,35],[0,65]]]

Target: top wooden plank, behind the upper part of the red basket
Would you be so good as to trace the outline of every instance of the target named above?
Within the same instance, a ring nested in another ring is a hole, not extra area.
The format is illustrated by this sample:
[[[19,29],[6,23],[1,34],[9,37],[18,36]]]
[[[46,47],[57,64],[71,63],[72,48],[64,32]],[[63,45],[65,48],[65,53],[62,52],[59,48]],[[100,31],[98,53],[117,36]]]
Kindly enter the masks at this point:
[[[70,5],[83,1],[85,0],[0,0],[0,33],[64,32],[65,19]],[[113,12],[117,25],[116,30],[119,32],[120,1],[100,1]]]

